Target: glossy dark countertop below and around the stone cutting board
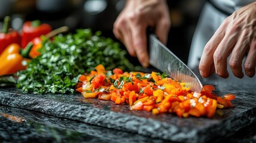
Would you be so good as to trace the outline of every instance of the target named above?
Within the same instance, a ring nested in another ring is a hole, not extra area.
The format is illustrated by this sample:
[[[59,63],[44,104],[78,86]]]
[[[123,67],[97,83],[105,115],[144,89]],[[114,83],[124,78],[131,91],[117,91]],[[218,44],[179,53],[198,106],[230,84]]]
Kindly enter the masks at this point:
[[[0,142],[170,142],[20,108],[0,106],[0,113],[26,119],[17,123],[0,116]],[[208,142],[256,142],[255,127],[253,123]]]

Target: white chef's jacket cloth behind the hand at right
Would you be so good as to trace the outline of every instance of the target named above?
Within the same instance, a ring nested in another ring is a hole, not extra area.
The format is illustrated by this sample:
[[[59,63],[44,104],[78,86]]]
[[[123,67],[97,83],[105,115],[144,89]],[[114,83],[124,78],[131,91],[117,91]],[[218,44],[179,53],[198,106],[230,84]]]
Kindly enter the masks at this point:
[[[190,47],[188,66],[191,69],[198,68],[205,44],[211,39],[223,20],[235,10],[252,0],[209,0],[206,2],[199,17],[198,24],[193,35]]]

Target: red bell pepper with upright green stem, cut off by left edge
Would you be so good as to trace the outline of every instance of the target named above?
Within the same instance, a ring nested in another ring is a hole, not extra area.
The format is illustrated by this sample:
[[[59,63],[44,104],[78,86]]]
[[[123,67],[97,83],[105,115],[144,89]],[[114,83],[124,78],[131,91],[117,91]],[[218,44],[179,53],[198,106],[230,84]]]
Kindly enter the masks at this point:
[[[6,16],[4,18],[4,26],[2,32],[0,32],[0,54],[7,48],[11,43],[17,43],[20,45],[20,34],[17,30],[10,29],[10,17]]]

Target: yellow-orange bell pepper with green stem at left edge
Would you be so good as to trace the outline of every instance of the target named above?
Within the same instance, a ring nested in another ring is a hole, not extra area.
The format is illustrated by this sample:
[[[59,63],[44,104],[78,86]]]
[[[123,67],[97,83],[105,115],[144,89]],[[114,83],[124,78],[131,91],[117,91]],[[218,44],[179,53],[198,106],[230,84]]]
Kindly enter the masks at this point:
[[[17,43],[12,43],[7,46],[0,55],[0,76],[5,74],[13,74],[20,70],[25,70],[27,62],[29,62],[29,51],[32,48],[32,43],[29,43],[25,49],[20,48]]]

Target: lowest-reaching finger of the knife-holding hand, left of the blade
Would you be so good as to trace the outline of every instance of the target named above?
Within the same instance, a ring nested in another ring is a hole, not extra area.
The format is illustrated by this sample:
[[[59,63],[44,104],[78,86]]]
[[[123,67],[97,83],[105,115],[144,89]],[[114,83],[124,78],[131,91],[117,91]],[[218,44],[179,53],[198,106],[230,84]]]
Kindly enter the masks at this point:
[[[146,26],[134,26],[134,28],[131,29],[131,38],[138,61],[140,61],[143,67],[148,67],[149,54],[147,53]]]

